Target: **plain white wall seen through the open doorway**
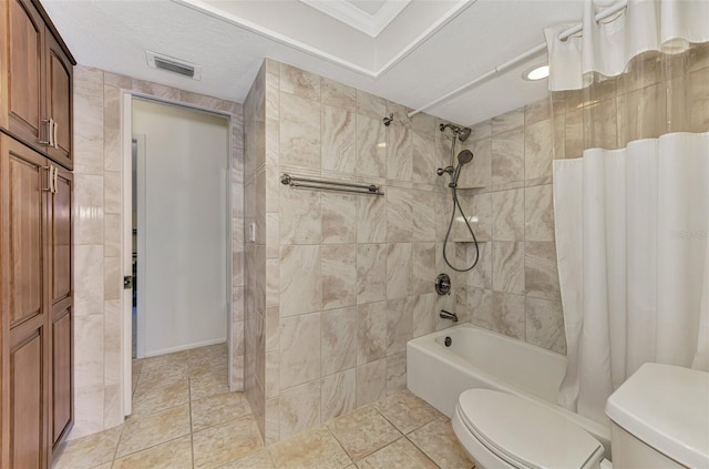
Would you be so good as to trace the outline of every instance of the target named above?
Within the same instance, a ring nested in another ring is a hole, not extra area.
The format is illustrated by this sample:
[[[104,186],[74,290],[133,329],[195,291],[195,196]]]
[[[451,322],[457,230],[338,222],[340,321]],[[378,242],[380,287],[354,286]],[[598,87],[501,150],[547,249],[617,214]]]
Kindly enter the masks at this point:
[[[132,118],[133,134],[145,135],[138,356],[224,341],[229,122],[143,100],[133,101]]]

